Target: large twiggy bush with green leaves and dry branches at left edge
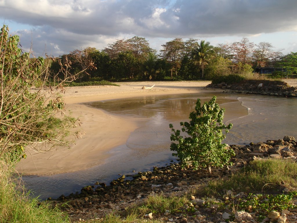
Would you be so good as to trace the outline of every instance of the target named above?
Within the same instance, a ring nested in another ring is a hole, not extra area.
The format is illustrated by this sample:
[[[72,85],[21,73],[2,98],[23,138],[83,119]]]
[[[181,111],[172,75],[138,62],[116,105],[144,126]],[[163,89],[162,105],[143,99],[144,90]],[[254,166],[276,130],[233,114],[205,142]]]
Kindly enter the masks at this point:
[[[5,25],[0,32],[0,49],[0,157],[15,162],[26,156],[27,148],[40,151],[67,145],[72,139],[66,136],[76,119],[56,116],[63,114],[64,107],[59,89],[79,73],[70,75],[69,64],[64,66],[60,61],[66,67],[61,69],[64,78],[50,76],[44,59],[31,59],[29,53],[22,53],[19,37],[9,36]]]

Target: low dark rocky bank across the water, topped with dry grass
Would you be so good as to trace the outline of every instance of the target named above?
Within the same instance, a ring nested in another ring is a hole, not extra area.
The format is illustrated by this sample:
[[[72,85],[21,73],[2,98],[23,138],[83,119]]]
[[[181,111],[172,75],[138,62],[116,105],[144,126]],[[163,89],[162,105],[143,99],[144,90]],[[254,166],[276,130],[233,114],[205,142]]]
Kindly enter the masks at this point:
[[[207,88],[219,88],[228,92],[297,97],[297,87],[291,87],[284,81],[247,80],[241,83],[208,84]]]

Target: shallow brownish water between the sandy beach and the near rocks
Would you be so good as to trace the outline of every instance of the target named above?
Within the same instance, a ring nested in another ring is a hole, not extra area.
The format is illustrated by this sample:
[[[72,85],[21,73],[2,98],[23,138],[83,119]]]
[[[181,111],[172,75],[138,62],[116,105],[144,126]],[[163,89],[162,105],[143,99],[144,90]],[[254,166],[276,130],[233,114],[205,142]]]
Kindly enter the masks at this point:
[[[212,96],[209,93],[182,94],[89,103],[115,115],[134,117],[140,127],[130,134],[125,145],[111,150],[110,158],[102,165],[49,177],[23,176],[24,183],[36,195],[41,194],[41,199],[56,198],[80,191],[96,181],[109,183],[119,175],[133,174],[133,170],[146,171],[169,164],[176,160],[169,149],[169,123],[178,129],[179,122],[188,121],[197,98],[202,104]],[[229,93],[216,93],[216,96],[217,103],[226,110],[224,122],[233,123],[225,143],[245,145],[285,135],[296,137],[296,98]]]

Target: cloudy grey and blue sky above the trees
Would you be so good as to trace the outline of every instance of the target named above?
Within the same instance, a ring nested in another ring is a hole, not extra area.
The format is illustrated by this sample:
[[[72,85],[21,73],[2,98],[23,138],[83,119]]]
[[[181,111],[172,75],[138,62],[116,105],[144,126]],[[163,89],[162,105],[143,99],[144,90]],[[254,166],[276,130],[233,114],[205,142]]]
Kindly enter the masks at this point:
[[[211,45],[247,37],[297,52],[297,0],[0,0],[0,21],[33,56],[102,50],[144,37],[159,51],[175,38]]]

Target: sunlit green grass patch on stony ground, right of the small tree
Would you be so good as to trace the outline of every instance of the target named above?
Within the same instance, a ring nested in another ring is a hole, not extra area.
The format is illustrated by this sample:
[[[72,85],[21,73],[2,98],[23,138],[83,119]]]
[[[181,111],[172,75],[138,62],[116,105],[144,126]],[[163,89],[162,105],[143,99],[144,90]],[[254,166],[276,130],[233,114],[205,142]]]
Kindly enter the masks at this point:
[[[267,192],[270,194],[297,190],[297,163],[290,160],[255,160],[241,172],[226,180],[209,182],[194,191],[199,196],[222,195],[227,190],[236,192]]]

